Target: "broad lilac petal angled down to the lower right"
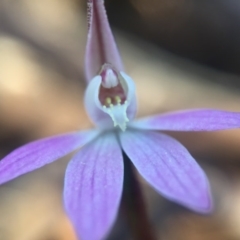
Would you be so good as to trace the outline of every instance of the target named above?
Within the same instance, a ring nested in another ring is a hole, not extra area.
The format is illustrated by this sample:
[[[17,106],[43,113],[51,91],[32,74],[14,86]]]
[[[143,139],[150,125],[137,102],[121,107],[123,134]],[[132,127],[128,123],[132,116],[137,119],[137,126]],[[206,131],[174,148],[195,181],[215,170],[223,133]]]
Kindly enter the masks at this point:
[[[127,131],[120,140],[139,173],[162,195],[197,212],[211,210],[207,177],[179,142],[150,131]]]

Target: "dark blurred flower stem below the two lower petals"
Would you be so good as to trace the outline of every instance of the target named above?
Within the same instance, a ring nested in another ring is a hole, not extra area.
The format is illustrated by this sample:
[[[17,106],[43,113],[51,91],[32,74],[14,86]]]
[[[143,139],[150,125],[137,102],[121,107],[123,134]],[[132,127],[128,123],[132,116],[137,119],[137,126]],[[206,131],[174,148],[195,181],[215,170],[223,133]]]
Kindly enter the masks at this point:
[[[155,240],[151,224],[148,220],[146,205],[141,186],[135,175],[129,158],[124,157],[124,187],[122,208],[124,217],[135,240]]]

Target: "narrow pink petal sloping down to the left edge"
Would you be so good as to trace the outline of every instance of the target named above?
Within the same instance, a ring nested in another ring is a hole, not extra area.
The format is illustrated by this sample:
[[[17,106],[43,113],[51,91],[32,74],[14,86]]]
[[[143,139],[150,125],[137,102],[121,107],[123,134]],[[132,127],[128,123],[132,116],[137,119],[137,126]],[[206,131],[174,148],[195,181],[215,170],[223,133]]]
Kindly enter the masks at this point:
[[[31,172],[91,141],[97,131],[68,133],[26,144],[0,161],[0,184]]]

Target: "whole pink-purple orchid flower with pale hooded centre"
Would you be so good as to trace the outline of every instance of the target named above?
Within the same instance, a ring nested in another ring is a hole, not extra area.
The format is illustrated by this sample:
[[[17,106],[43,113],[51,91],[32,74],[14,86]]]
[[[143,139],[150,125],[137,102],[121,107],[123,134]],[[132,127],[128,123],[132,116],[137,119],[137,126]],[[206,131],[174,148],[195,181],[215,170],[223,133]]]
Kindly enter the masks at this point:
[[[207,177],[186,148],[161,133],[240,127],[240,114],[200,109],[134,120],[135,84],[123,69],[103,0],[88,1],[85,107],[96,129],[31,142],[0,161],[0,183],[78,150],[64,181],[64,206],[81,240],[104,239],[123,188],[123,156],[159,194],[193,211],[212,209]],[[81,148],[81,149],[80,149]]]

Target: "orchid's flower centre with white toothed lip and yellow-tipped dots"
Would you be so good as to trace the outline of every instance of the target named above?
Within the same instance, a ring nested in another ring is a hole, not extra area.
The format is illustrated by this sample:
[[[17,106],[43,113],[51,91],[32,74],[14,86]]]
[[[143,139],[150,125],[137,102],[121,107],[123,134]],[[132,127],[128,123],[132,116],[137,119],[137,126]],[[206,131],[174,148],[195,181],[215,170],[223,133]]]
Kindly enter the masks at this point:
[[[108,65],[103,66],[100,76],[102,83],[99,101],[102,104],[102,110],[112,118],[114,127],[119,126],[122,131],[125,131],[129,121],[127,117],[128,101],[121,77]]]

